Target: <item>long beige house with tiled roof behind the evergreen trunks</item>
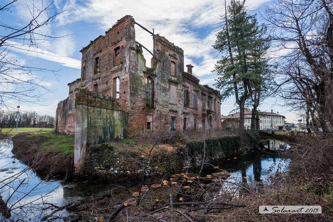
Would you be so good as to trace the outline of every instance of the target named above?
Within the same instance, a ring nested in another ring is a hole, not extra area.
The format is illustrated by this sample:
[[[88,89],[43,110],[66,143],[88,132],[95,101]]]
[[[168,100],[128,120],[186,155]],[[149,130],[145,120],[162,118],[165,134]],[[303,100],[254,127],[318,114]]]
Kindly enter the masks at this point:
[[[252,117],[252,111],[249,109],[245,109],[244,110],[245,128],[251,127],[251,117]],[[273,122],[270,112],[259,112],[259,118],[260,118],[260,129],[265,129],[265,128],[285,129],[284,122],[286,117],[284,115],[280,115],[279,112],[277,113],[273,112]],[[239,121],[239,112],[231,113],[229,115],[221,115],[221,122],[225,121],[226,119],[228,119],[227,121],[229,121],[230,119],[235,119]]]

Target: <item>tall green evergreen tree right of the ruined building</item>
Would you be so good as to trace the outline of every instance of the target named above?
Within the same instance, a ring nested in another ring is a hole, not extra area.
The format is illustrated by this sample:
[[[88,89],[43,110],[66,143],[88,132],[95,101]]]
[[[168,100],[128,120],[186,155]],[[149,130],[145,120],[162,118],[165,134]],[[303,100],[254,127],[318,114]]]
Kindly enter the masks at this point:
[[[267,61],[261,59],[266,47],[259,47],[265,29],[257,23],[255,15],[248,15],[245,1],[232,0],[225,5],[221,30],[213,45],[221,54],[213,72],[217,73],[215,86],[221,90],[222,99],[232,95],[239,106],[239,127],[244,126],[244,107],[246,100],[261,90],[262,68]],[[256,100],[260,96],[256,97]]]

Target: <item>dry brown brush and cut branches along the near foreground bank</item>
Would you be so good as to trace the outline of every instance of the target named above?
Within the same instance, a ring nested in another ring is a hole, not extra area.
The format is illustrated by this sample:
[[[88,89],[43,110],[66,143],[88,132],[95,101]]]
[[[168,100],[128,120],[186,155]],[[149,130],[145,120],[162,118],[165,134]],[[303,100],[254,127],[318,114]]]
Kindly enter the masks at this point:
[[[255,189],[253,184],[235,183],[225,175],[201,174],[198,179],[198,174],[186,173],[147,180],[140,198],[135,195],[140,185],[110,185],[107,192],[86,199],[76,209],[81,212],[77,217],[79,221],[124,222],[332,221],[332,147],[333,139],[329,137],[299,137],[285,153],[291,157],[289,169],[279,168],[268,183],[256,182]],[[263,215],[258,212],[260,205],[320,205],[322,214]]]

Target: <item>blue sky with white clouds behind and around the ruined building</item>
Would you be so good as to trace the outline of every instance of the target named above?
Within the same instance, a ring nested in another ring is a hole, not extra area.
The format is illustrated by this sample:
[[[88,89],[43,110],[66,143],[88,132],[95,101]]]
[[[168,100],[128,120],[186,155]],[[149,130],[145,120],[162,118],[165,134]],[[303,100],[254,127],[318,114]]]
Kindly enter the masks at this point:
[[[8,0],[1,0],[4,5]],[[30,15],[26,4],[28,0],[18,0],[19,5],[14,7],[12,13],[1,12],[1,22],[12,25],[23,25]],[[36,4],[46,5],[50,1],[35,0]],[[227,1],[228,3],[228,1]],[[24,111],[37,111],[40,114],[55,115],[57,103],[68,96],[67,83],[80,78],[82,47],[89,44],[99,35],[104,35],[117,19],[124,15],[132,15],[135,20],[146,28],[155,29],[155,33],[165,36],[170,42],[184,50],[184,65],[192,64],[193,73],[200,79],[200,84],[208,84],[213,87],[215,74],[214,50],[211,45],[215,41],[216,32],[213,24],[218,22],[216,18],[223,13],[224,0],[192,0],[192,1],[139,1],[139,0],[56,0],[58,10],[65,9],[65,14],[58,17],[57,23],[52,27],[53,35],[70,34],[62,39],[52,39],[41,47],[41,51],[53,56],[38,53],[26,53],[20,50],[11,50],[22,64],[59,70],[57,75],[52,73],[34,73],[43,85],[52,92],[44,95],[46,101],[37,104],[20,104]],[[263,10],[264,6],[271,4],[269,0],[247,0],[250,13]],[[260,20],[260,16],[258,15]],[[4,31],[4,30],[0,30]],[[153,41],[150,34],[136,26],[136,40],[152,51]],[[147,61],[151,55],[144,52]],[[147,62],[149,66],[150,63]],[[186,69],[186,67],[185,67]],[[0,86],[1,87],[1,86]],[[234,109],[235,98],[232,97],[221,105],[221,114],[227,115]],[[267,99],[259,108],[262,111],[279,111],[286,115],[287,121],[297,119],[295,113],[288,112],[287,107],[278,106],[275,98]],[[17,102],[10,104],[17,106]]]

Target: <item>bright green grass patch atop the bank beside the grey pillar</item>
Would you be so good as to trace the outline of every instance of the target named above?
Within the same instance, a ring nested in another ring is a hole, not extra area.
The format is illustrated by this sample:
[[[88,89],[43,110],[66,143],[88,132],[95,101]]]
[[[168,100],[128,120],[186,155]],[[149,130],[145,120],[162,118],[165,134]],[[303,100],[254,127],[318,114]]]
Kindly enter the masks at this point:
[[[43,151],[58,151],[63,157],[70,157],[74,155],[74,141],[75,136],[55,134],[52,132],[34,133],[30,136],[44,136],[45,141],[40,141],[38,144]]]

